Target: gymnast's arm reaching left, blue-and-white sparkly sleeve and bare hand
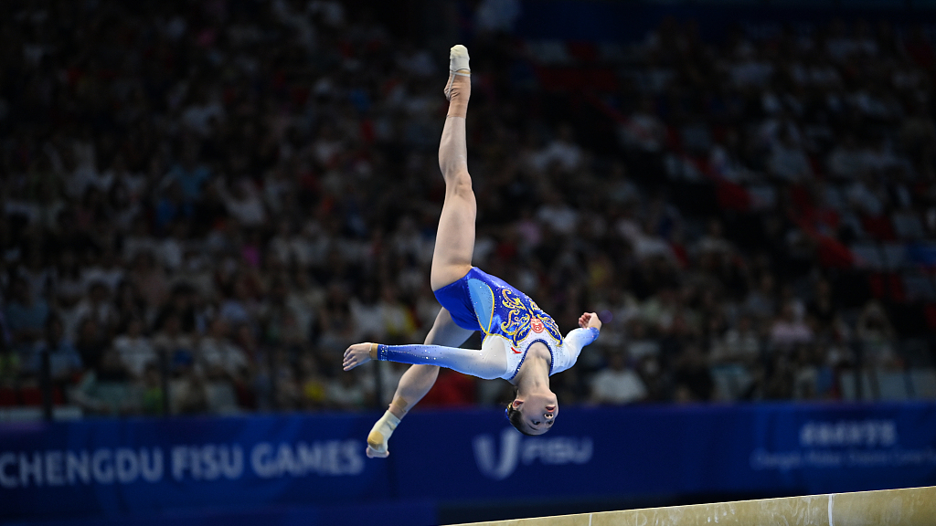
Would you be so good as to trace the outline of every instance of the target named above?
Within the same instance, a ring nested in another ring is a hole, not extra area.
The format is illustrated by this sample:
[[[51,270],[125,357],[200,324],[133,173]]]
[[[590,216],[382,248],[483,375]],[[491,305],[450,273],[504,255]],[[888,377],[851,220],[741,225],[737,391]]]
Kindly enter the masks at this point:
[[[372,359],[438,365],[459,373],[470,374],[491,380],[505,373],[507,358],[504,351],[496,347],[461,349],[442,345],[384,345],[382,343],[357,343],[344,351],[344,371]]]

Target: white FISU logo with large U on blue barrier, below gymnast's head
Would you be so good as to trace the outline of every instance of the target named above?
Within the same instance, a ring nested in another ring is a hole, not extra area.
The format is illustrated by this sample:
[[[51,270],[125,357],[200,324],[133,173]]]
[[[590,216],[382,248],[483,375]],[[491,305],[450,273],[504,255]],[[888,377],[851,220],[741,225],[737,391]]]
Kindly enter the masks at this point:
[[[548,465],[585,464],[592,460],[594,449],[591,437],[524,438],[510,428],[501,431],[500,456],[490,434],[475,436],[473,446],[477,469],[494,480],[504,480],[520,463],[530,465],[536,460]]]

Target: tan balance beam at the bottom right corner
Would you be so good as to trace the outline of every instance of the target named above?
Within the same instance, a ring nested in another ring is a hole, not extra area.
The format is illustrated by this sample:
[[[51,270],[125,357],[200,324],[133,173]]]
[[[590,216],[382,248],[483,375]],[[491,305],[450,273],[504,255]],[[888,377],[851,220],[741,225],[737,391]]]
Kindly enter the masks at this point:
[[[476,522],[489,526],[934,526],[936,486]]]

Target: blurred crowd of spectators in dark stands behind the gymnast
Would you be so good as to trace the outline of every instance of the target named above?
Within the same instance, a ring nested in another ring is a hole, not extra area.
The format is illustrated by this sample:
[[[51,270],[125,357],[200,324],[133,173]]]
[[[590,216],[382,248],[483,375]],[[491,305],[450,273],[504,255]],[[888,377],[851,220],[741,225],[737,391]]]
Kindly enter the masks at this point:
[[[931,365],[922,28],[480,25],[475,265],[563,333],[606,322],[563,403],[877,397]],[[388,402],[402,366],[341,357],[438,311],[447,48],[329,0],[11,1],[0,29],[0,406],[43,370],[87,415]],[[424,405],[505,387],[444,372]]]

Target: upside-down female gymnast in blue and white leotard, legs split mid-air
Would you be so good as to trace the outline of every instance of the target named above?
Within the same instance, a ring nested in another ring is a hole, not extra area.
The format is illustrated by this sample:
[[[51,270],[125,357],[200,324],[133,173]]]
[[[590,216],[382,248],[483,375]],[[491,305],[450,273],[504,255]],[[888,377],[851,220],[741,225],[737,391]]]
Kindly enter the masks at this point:
[[[468,50],[461,44],[449,52],[448,68],[448,113],[439,144],[446,197],[430,277],[442,310],[424,345],[357,343],[344,351],[344,371],[372,359],[413,364],[403,373],[388,411],[367,437],[370,458],[388,456],[390,434],[429,392],[439,367],[479,378],[504,378],[517,387],[505,411],[511,424],[529,435],[548,431],[559,415],[549,376],[575,365],[582,347],[592,343],[601,329],[597,314],[585,313],[578,318],[580,329],[563,338],[556,322],[534,300],[472,266],[476,203],[465,145],[471,69]],[[475,330],[484,332],[481,349],[458,348]]]

